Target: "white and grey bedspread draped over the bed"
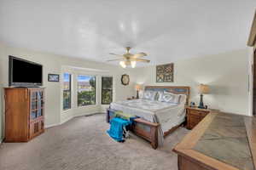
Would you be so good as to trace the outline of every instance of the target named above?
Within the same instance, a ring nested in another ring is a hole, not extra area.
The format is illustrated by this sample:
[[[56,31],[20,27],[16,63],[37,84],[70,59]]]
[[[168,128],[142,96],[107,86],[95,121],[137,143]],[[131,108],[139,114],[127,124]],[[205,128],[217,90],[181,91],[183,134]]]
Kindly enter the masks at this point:
[[[184,121],[185,103],[172,104],[148,99],[132,99],[113,102],[110,108],[140,116],[148,122],[160,123],[159,145],[164,142],[164,132]]]

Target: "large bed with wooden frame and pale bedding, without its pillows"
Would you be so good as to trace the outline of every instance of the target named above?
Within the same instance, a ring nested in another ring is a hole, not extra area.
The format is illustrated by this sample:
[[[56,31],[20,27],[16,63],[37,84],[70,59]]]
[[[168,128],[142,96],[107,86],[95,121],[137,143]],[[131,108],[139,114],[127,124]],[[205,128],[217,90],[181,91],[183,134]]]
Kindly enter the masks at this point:
[[[184,98],[179,103],[167,103],[155,99],[132,99],[113,102],[109,106],[107,122],[111,111],[123,111],[140,118],[135,119],[131,130],[147,139],[156,149],[163,145],[164,138],[185,121],[185,105],[189,103],[189,87],[147,86],[144,91],[180,94]]]

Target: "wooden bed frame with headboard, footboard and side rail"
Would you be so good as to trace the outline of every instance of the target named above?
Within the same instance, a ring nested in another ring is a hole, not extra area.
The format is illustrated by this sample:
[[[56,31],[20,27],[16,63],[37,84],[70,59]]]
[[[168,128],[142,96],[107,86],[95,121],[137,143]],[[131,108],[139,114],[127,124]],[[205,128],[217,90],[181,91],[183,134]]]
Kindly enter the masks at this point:
[[[171,92],[172,94],[186,94],[187,100],[186,105],[189,105],[189,87],[185,86],[146,86],[145,90],[154,90],[154,91],[166,91]],[[109,122],[110,116],[109,116],[109,109],[107,110],[107,122]],[[143,139],[146,139],[148,142],[150,142],[152,148],[154,150],[158,147],[158,128],[160,126],[159,123],[154,122],[148,122],[143,120],[142,118],[137,118],[134,120],[134,124],[131,127],[131,131],[137,136],[142,137]],[[150,131],[144,130],[140,125],[149,127]],[[164,133],[164,137],[166,137],[168,134],[174,132],[178,127],[182,126],[182,124],[177,125],[176,127],[172,127],[168,131]]]

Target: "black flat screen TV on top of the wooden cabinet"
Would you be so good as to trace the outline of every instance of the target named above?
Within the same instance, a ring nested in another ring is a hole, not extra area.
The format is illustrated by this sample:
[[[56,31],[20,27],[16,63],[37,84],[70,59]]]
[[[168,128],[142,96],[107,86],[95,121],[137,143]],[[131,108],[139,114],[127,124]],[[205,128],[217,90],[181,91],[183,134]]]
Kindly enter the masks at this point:
[[[9,86],[38,87],[43,85],[43,65],[9,56]]]

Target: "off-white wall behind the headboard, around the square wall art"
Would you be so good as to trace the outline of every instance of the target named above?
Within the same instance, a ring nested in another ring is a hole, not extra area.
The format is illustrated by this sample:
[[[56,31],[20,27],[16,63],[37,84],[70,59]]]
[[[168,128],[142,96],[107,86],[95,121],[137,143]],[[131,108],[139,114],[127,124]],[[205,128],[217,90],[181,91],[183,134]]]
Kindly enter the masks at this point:
[[[204,95],[204,103],[212,109],[241,115],[248,113],[247,49],[209,55],[174,62],[174,82],[155,82],[155,66],[137,68],[131,73],[135,83],[157,86],[189,86],[190,100],[199,103],[197,86],[208,84],[211,94]],[[137,73],[140,74],[137,74]]]

